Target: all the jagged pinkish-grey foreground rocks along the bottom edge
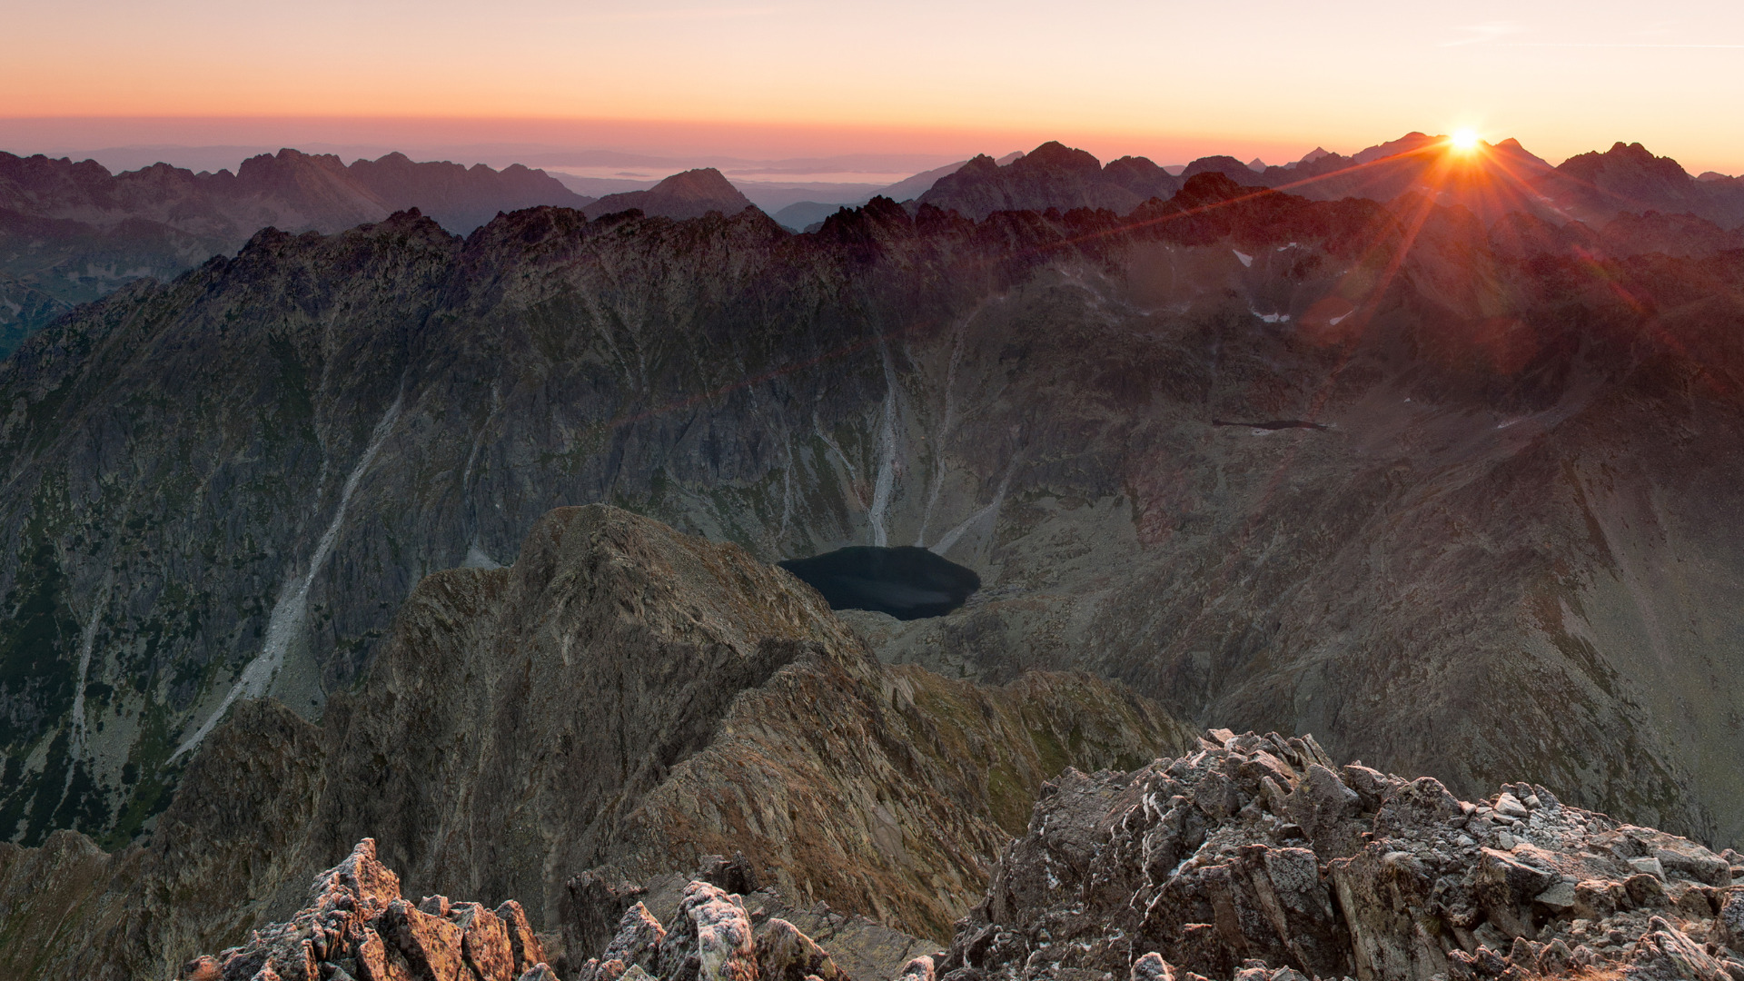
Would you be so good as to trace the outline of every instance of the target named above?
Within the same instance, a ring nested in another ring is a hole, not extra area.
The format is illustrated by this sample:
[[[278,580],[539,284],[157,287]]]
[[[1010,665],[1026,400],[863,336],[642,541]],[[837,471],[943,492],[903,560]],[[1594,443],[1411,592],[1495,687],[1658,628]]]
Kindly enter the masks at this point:
[[[664,923],[647,888],[591,890],[577,915],[628,908],[567,978],[849,981],[748,875],[717,861]],[[898,981],[1744,981],[1735,878],[1737,852],[1540,785],[1460,801],[1430,777],[1334,770],[1313,737],[1212,730],[1191,756],[1050,782],[950,950]],[[413,906],[364,840],[291,922],[180,978],[555,981],[542,957],[516,902]]]

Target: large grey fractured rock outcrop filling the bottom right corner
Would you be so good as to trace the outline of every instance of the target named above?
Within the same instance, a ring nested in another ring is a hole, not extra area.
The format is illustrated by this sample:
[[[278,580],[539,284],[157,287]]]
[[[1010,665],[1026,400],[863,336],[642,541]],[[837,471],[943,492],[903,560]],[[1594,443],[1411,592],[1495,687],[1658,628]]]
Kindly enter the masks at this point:
[[[1212,730],[1130,773],[1069,772],[959,923],[940,974],[1482,981],[1744,978],[1739,855],[1503,785],[1334,770]]]

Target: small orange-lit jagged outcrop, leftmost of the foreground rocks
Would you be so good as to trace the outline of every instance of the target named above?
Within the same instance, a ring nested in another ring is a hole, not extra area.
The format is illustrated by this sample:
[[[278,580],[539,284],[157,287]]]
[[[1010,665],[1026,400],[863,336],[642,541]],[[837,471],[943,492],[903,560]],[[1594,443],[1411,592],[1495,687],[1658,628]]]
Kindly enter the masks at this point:
[[[316,876],[309,906],[242,946],[197,957],[181,981],[556,981],[521,904],[485,909],[399,895],[399,876],[364,838]]]

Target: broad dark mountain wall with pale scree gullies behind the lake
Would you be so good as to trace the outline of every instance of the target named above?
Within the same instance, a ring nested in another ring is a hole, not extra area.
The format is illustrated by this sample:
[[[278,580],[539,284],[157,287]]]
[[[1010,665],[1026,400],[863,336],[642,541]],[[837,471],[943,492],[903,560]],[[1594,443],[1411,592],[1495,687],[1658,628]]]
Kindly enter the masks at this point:
[[[0,815],[127,841],[232,695],[321,716],[422,576],[609,501],[973,567],[889,660],[1735,841],[1744,267],[1510,229],[1200,175],[1127,222],[258,236],[0,365]]]

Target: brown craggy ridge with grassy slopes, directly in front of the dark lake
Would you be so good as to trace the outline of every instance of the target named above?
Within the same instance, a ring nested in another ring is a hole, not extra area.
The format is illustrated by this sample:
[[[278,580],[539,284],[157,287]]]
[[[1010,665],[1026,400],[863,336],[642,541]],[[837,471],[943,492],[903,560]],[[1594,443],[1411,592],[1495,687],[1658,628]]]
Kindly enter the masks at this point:
[[[242,702],[148,845],[7,845],[0,964],[164,978],[291,918],[361,838],[408,890],[520,899],[551,934],[581,936],[579,875],[743,852],[794,902],[944,939],[1043,780],[1188,742],[1088,676],[987,688],[881,667],[741,548],[569,508],[513,567],[426,578],[319,726]]]

